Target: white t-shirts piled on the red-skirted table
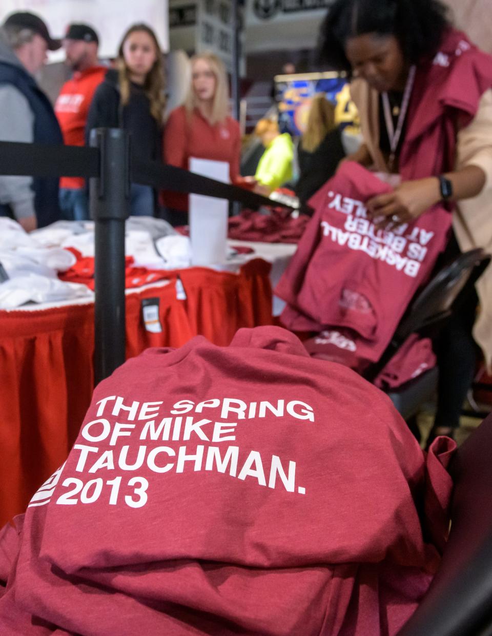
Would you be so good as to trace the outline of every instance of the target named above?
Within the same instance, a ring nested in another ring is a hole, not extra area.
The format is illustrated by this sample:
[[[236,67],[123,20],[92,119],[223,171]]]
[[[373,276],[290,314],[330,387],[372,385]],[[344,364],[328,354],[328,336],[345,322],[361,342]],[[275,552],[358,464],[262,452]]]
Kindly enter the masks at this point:
[[[93,221],[57,221],[28,234],[16,221],[0,218],[0,310],[29,302],[92,299],[93,292],[85,285],[58,279],[58,272],[66,272],[76,263],[69,247],[82,257],[94,257]],[[125,254],[132,256],[135,267],[150,270],[174,270],[192,264],[189,238],[163,219],[151,217],[130,217],[126,221]]]

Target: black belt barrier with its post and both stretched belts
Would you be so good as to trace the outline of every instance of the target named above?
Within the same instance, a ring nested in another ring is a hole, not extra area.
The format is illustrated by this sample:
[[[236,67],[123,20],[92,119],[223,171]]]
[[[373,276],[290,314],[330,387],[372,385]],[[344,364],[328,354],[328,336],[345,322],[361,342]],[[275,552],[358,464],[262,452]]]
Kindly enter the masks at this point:
[[[158,162],[130,160],[130,138],[121,128],[96,128],[90,147],[0,141],[0,174],[85,177],[95,222],[95,349],[98,383],[125,361],[125,221],[130,183],[238,202],[294,208],[249,190]]]

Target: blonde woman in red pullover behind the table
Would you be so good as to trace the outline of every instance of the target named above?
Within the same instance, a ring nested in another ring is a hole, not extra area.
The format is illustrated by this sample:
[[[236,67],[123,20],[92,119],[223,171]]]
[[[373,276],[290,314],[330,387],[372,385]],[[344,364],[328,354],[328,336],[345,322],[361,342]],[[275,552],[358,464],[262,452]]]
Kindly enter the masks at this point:
[[[226,70],[218,57],[191,58],[191,85],[184,104],[172,111],[164,133],[164,162],[188,170],[189,158],[229,163],[229,178],[239,175],[241,135],[229,116]],[[165,191],[161,202],[172,225],[188,223],[188,195]]]

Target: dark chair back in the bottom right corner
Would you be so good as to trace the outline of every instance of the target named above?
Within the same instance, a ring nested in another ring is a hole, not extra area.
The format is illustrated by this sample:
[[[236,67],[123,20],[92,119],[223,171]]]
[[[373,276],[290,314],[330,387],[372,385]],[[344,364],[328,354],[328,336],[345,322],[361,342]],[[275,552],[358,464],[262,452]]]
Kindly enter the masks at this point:
[[[460,446],[451,532],[427,595],[398,636],[492,635],[492,414]]]

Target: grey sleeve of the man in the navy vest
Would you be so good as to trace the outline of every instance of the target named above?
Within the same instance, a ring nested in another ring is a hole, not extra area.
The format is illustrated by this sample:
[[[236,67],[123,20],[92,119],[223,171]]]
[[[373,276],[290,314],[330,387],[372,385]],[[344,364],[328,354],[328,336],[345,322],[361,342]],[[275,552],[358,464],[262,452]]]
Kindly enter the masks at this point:
[[[31,144],[34,114],[15,86],[0,86],[0,140]],[[32,177],[0,176],[0,203],[8,204],[16,219],[34,216]]]

